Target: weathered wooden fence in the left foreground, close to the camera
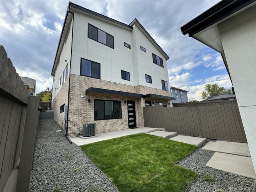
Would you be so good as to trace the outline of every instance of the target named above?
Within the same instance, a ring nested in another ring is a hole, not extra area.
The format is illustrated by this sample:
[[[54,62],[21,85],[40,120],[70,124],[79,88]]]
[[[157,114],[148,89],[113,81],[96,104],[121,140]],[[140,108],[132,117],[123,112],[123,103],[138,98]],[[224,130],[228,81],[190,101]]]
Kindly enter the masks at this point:
[[[28,96],[1,45],[0,63],[0,192],[28,192],[40,99]]]

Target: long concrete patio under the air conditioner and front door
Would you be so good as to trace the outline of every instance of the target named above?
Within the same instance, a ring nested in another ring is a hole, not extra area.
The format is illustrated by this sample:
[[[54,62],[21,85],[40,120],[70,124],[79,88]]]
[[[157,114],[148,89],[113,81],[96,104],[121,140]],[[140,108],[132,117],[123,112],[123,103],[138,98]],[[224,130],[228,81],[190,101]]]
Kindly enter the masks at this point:
[[[124,129],[124,130],[118,130],[118,131],[112,131],[112,132],[106,132],[106,133],[98,133],[96,134],[96,137],[86,138],[86,139],[82,139],[80,137],[73,137],[73,138],[70,138],[70,140],[76,145],[80,146],[80,145],[90,144],[90,143],[108,140],[112,138],[118,138],[126,135],[149,133],[153,131],[165,131],[165,129],[141,127],[141,128],[135,128],[135,129]]]

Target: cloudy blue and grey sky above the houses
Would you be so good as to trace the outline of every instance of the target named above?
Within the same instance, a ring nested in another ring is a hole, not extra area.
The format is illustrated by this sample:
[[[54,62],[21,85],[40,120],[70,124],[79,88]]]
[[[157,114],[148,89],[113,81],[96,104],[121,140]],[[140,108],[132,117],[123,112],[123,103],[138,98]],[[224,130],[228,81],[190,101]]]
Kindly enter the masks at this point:
[[[180,27],[219,0],[73,0],[75,4],[130,24],[134,18],[170,57],[170,86],[201,100],[205,84],[231,88],[220,54],[184,36]],[[20,76],[36,79],[36,93],[52,88],[52,65],[68,0],[1,0],[0,44]]]

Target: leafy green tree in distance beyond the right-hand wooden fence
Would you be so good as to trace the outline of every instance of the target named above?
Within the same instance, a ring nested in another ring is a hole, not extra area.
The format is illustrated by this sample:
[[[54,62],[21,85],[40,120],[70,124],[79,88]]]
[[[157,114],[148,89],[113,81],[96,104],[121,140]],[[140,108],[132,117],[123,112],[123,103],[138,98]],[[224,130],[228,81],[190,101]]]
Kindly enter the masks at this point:
[[[232,89],[225,89],[217,84],[206,84],[205,91],[202,92],[202,99],[205,100],[207,98],[223,94],[232,94]]]

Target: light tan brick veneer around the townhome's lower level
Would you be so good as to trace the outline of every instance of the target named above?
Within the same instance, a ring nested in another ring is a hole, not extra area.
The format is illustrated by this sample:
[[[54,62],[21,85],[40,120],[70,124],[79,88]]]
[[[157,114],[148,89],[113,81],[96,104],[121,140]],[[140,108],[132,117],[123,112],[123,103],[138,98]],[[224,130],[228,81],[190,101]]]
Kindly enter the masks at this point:
[[[67,84],[67,85],[66,85]],[[79,76],[70,74],[70,102],[69,102],[69,111],[68,111],[68,136],[75,137],[78,136],[78,133],[82,132],[83,123],[96,123],[96,134],[102,132],[110,132],[115,130],[122,130],[128,128],[128,109],[127,103],[124,101],[133,100],[135,101],[136,107],[136,123],[137,127],[144,126],[143,120],[143,110],[145,107],[144,98],[131,98],[131,97],[122,97],[114,95],[101,95],[101,94],[92,94],[86,95],[85,91],[90,88],[102,88],[116,91],[124,91],[138,94],[158,94],[164,96],[170,96],[170,92],[159,90],[155,88],[145,87],[145,86],[130,86],[125,84],[120,84],[116,82],[110,82],[85,76]],[[81,97],[83,96],[83,97]],[[90,103],[88,99],[90,98]],[[122,118],[112,119],[112,120],[96,120],[94,121],[94,100],[117,100],[121,101],[122,108]],[[63,124],[64,113],[60,114],[60,106],[62,104],[67,104],[68,102],[68,83],[67,81],[62,86],[61,90],[58,92],[58,95],[54,98],[53,108],[54,108],[54,119],[58,124]],[[154,102],[166,102],[166,100],[154,100]],[[154,106],[154,104],[152,104]],[[167,106],[171,107],[172,103]]]

